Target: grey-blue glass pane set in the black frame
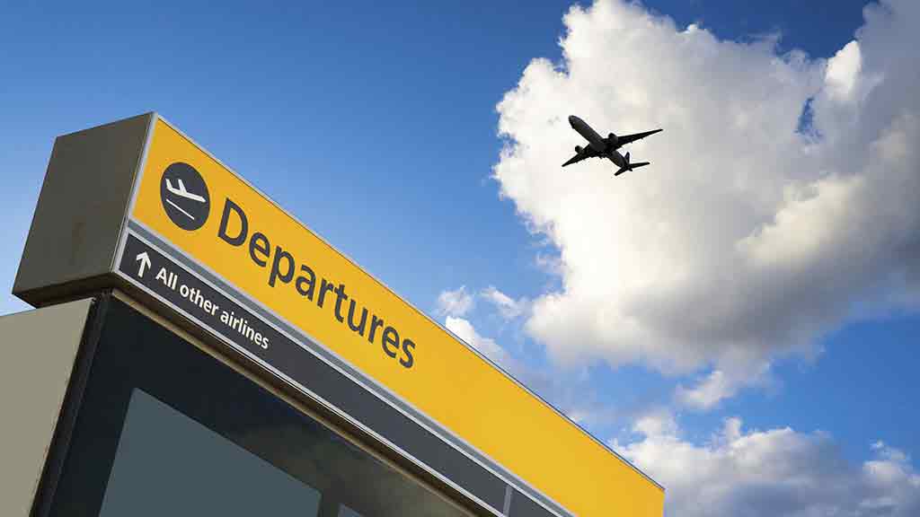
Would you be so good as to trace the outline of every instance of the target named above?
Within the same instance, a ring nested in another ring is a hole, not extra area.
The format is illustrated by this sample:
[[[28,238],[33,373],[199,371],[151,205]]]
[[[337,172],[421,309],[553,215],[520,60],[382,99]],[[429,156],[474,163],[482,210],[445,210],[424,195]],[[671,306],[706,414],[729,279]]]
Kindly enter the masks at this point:
[[[313,517],[319,498],[316,489],[135,389],[100,515]]]

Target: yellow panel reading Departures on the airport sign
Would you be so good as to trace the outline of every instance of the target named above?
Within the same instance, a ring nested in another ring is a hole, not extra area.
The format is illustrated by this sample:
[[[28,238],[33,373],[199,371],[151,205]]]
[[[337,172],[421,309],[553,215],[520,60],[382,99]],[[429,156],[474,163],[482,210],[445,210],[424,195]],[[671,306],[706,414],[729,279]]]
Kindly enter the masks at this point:
[[[166,122],[146,152],[132,219],[569,511],[661,515],[661,488]],[[203,212],[179,202],[197,196],[183,167],[203,179]]]

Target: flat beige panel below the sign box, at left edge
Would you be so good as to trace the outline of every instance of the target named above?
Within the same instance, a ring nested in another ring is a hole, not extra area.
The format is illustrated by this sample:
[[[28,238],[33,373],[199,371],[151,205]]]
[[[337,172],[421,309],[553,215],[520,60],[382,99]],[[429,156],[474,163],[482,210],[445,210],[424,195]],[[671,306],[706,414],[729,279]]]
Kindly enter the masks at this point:
[[[0,515],[29,515],[91,304],[0,316]]]

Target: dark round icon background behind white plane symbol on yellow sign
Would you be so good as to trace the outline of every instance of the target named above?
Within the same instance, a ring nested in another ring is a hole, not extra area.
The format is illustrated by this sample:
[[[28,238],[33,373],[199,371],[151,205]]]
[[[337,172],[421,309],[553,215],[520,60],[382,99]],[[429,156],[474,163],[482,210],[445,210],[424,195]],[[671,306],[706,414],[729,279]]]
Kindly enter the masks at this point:
[[[182,196],[167,188],[167,181],[173,190],[181,190],[181,179],[185,191],[191,196],[201,196],[204,202]],[[160,178],[160,201],[169,219],[184,230],[197,230],[208,220],[211,213],[211,194],[204,178],[189,164],[176,162],[163,171]]]

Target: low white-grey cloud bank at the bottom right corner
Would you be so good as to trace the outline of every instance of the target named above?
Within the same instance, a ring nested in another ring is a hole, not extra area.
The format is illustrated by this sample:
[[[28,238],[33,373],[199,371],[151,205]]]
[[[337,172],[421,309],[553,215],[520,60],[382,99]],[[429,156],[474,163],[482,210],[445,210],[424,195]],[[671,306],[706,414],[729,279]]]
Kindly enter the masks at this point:
[[[684,441],[665,413],[639,419],[634,431],[640,440],[613,445],[667,488],[669,517],[920,514],[920,474],[883,442],[857,465],[822,432],[744,431],[740,419],[702,444]]]

